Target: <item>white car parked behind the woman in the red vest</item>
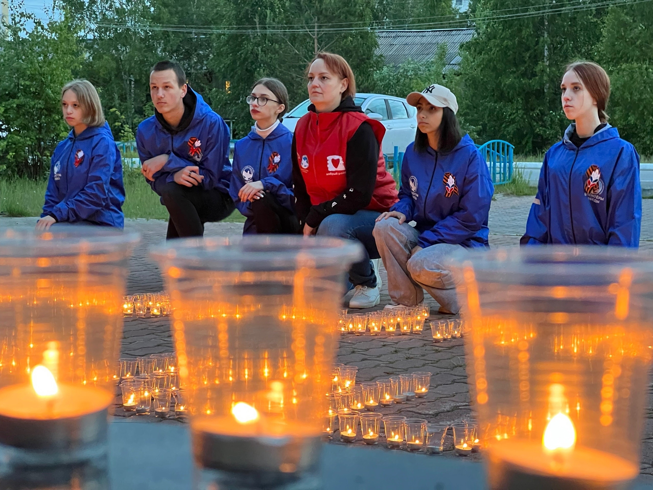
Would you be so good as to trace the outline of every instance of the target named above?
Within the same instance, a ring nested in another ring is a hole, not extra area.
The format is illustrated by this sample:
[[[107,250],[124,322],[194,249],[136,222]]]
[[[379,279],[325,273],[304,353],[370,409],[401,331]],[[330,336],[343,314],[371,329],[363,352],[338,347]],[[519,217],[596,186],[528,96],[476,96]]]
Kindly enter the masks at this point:
[[[354,102],[361,106],[370,118],[381,121],[385,126],[381,146],[386,155],[394,154],[395,146],[398,146],[400,152],[405,152],[406,146],[415,141],[417,110],[408,105],[406,100],[379,93],[357,93]],[[306,100],[285,114],[282,124],[294,133],[297,121],[308,112],[310,103],[310,100]]]

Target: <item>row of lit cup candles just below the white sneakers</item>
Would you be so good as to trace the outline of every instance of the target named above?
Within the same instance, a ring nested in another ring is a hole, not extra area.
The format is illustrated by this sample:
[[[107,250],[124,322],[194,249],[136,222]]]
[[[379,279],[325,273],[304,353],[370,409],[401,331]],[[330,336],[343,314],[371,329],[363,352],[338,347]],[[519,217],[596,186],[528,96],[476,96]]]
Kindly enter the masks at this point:
[[[347,314],[347,310],[342,310],[338,318],[338,330],[356,335],[367,331],[370,335],[378,335],[381,330],[387,333],[398,331],[402,335],[419,335],[424,331],[424,321],[430,315],[430,310],[431,307],[426,304],[370,313]]]

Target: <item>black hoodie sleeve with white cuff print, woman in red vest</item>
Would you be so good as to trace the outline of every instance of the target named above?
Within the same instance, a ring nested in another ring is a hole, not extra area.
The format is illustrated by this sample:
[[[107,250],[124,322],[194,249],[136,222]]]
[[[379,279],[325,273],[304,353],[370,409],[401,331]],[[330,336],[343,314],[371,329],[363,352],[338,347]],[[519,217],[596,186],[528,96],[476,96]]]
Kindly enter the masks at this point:
[[[347,188],[331,201],[311,206],[310,212],[306,216],[306,223],[311,228],[316,228],[330,214],[354,214],[368,206],[372,201],[372,193],[374,193],[378,162],[379,142],[376,140],[372,126],[364,122],[347,142],[345,156]],[[293,172],[295,167],[299,170],[296,155],[295,161],[293,161]],[[302,178],[303,184],[304,179]],[[306,186],[304,186],[304,192],[306,192]],[[297,194],[295,193],[295,195]],[[297,201],[299,203],[299,198]],[[298,216],[302,219],[303,215],[299,214]]]

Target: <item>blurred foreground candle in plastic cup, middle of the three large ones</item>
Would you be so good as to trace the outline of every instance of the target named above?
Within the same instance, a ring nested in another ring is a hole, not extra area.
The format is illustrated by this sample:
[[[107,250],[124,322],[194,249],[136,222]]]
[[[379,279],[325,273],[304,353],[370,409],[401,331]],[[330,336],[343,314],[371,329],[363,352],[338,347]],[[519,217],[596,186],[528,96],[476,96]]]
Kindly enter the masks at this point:
[[[331,238],[205,238],[170,242],[153,255],[168,280],[200,483],[320,487],[334,325],[343,273],[362,257],[359,245]],[[251,304],[257,306],[244,307]],[[238,318],[221,314],[236,306]],[[293,312],[285,319],[284,307]],[[266,359],[272,368],[250,372],[251,359]],[[343,378],[338,389],[355,385],[355,367],[337,372]]]

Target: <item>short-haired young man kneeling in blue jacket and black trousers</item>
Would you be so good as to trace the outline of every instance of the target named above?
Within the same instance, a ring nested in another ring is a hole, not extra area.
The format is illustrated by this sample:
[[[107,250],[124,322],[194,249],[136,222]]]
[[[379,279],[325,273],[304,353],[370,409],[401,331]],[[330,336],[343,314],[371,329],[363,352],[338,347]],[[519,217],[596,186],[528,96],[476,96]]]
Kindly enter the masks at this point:
[[[204,223],[234,210],[229,128],[187,85],[179,63],[154,65],[150,96],[154,115],[136,133],[142,174],[170,214],[167,238],[202,237]]]

